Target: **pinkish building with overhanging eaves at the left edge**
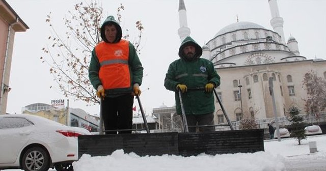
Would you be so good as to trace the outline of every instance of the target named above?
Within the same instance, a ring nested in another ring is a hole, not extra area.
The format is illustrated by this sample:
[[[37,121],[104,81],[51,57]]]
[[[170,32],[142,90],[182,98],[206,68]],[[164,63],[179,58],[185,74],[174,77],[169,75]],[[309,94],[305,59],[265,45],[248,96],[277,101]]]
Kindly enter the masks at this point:
[[[6,114],[12,52],[16,32],[26,32],[29,26],[5,1],[0,1],[0,115]]]

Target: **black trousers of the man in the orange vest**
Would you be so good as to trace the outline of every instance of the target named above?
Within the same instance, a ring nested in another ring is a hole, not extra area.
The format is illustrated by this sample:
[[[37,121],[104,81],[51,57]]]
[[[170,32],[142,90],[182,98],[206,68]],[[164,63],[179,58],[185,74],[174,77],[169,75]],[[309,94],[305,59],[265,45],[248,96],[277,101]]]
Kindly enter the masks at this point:
[[[105,97],[102,101],[102,119],[105,130],[132,128],[133,96],[126,94],[118,97]],[[131,133],[119,131],[121,133]],[[117,131],[107,131],[105,134],[117,134]]]

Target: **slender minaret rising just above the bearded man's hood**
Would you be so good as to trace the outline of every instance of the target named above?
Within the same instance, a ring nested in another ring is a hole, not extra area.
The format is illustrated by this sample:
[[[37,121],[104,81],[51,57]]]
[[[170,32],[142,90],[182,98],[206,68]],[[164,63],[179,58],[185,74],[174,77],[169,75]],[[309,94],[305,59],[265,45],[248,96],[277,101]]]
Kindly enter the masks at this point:
[[[182,42],[187,36],[190,36],[190,29],[187,24],[187,11],[185,10],[183,0],[179,0],[179,23],[178,35]]]

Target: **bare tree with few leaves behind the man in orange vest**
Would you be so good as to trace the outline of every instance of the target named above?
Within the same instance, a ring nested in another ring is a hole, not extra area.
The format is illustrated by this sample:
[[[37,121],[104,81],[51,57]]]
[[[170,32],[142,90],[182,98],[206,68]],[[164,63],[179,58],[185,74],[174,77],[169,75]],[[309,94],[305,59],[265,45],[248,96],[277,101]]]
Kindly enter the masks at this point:
[[[120,4],[117,9],[117,19],[121,22],[121,11],[124,6]],[[103,21],[103,8],[96,0],[89,3],[74,5],[74,11],[68,11],[68,16],[63,18],[66,32],[62,36],[58,29],[51,23],[51,13],[46,16],[49,23],[51,36],[48,37],[50,46],[42,48],[45,53],[41,56],[42,63],[50,66],[53,81],[59,90],[66,96],[75,100],[89,103],[98,103],[96,91],[93,89],[88,77],[88,68],[91,53],[96,44],[101,41],[100,27]],[[133,42],[135,49],[140,53],[142,31],[141,21],[135,22],[138,35]],[[62,32],[62,31],[61,31]],[[124,39],[129,38],[128,30],[123,30]],[[53,88],[52,86],[50,88]]]

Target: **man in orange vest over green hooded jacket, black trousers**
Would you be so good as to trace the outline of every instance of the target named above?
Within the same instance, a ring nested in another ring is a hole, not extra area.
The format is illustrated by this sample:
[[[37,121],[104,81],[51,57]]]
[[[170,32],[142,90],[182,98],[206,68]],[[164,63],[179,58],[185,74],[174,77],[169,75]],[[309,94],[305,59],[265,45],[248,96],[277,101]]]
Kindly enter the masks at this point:
[[[137,52],[127,40],[113,16],[101,26],[101,38],[92,51],[89,78],[102,99],[102,119],[106,134],[131,133],[133,96],[140,95],[143,66]]]

